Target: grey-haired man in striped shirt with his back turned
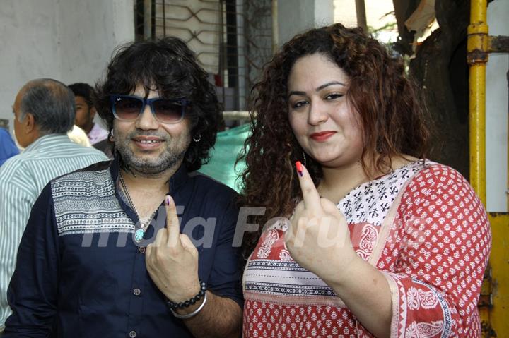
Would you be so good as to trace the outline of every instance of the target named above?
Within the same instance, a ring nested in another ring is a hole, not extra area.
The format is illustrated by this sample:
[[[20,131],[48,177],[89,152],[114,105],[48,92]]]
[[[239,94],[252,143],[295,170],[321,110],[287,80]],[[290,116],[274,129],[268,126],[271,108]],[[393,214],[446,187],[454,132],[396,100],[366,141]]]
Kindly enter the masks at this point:
[[[74,95],[57,80],[25,84],[13,114],[16,139],[25,150],[0,167],[0,327],[11,313],[6,292],[18,244],[42,188],[57,176],[107,160],[103,152],[67,137],[74,123]]]

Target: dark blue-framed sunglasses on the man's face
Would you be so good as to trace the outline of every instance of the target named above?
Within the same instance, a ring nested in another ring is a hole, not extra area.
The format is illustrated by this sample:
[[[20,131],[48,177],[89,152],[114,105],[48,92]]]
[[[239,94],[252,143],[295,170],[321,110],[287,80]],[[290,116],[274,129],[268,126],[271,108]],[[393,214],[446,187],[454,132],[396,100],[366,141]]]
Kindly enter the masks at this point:
[[[132,95],[110,95],[110,103],[113,115],[119,121],[136,121],[148,104],[156,120],[170,124],[182,121],[187,107],[191,106],[191,101],[184,98],[145,99]]]

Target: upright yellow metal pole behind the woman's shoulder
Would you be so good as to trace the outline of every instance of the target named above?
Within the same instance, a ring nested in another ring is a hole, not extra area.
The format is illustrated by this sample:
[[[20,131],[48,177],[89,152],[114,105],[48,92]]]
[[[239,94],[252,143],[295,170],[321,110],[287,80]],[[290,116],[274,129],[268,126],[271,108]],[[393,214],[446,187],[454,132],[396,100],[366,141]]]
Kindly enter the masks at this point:
[[[468,28],[467,60],[470,65],[470,183],[486,205],[486,62],[488,61],[488,25],[486,24],[486,0],[472,0]],[[491,268],[488,266],[487,271]],[[481,288],[491,299],[491,280],[485,280]],[[482,336],[491,337],[491,301],[479,308]]]

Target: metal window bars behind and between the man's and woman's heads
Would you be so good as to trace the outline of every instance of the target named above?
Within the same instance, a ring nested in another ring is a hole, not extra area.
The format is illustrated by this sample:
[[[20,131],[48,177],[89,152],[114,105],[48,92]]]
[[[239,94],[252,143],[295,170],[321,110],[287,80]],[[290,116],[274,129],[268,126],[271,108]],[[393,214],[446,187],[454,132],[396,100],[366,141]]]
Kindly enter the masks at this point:
[[[135,8],[139,39],[187,42],[217,87],[225,119],[248,119],[247,98],[272,55],[271,0],[137,0]]]

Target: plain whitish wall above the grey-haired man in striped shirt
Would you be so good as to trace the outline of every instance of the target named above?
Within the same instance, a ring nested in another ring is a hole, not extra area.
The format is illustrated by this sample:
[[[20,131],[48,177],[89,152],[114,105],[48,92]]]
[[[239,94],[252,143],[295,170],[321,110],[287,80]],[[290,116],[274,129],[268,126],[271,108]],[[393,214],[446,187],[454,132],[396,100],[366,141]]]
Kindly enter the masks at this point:
[[[0,119],[34,78],[91,85],[118,44],[134,40],[134,0],[1,0]]]

